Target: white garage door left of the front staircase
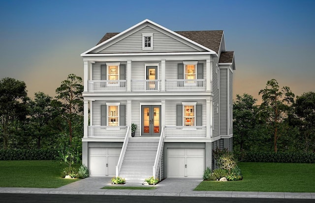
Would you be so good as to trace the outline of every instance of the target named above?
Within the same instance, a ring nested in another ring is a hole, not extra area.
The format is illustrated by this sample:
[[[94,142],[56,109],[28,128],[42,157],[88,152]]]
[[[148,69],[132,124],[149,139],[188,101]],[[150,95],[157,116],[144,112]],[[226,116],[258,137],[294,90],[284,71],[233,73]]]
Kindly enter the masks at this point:
[[[90,176],[115,176],[120,151],[121,148],[91,147],[89,153]]]

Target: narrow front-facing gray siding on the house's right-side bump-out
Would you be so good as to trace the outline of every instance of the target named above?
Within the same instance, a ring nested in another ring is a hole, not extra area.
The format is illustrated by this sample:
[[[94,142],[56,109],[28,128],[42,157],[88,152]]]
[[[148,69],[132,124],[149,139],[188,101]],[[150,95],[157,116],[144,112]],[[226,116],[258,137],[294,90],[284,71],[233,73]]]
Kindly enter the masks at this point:
[[[227,69],[220,69],[220,135],[227,135]]]

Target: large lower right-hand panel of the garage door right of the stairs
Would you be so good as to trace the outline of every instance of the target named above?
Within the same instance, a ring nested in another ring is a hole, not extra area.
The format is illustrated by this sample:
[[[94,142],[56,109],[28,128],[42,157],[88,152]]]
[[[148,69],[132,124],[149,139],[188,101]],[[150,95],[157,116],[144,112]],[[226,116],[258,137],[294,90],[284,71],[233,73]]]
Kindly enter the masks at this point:
[[[204,172],[204,158],[187,157],[187,176],[200,177]]]

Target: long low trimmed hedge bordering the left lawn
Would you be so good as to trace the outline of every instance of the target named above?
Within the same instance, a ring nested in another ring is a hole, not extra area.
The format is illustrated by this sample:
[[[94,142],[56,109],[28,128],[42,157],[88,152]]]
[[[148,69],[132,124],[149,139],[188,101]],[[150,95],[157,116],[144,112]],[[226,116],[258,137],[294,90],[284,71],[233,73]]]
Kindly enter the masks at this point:
[[[56,149],[0,149],[0,160],[55,160]]]

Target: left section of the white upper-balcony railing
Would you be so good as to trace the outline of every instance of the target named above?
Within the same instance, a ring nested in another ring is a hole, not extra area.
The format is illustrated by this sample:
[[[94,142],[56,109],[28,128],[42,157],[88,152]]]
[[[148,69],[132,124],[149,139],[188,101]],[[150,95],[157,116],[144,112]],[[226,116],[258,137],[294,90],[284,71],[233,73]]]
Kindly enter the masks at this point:
[[[126,91],[126,80],[89,80],[88,91]]]

